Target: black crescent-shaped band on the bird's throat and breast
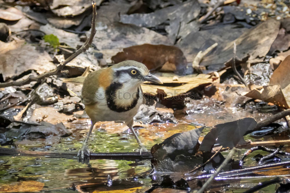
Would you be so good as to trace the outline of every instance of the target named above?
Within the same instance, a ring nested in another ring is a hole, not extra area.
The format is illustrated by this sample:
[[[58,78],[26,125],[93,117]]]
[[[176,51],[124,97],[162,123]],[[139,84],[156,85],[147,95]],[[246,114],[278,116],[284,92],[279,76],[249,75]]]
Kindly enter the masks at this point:
[[[121,88],[121,86],[122,86],[121,83],[114,82],[106,89],[107,105],[110,108],[110,110],[115,111],[115,112],[126,112],[128,110],[133,109],[137,105],[138,100],[140,98],[140,94],[139,94],[140,90],[138,87],[137,93],[136,93],[136,98],[133,99],[133,102],[131,103],[130,106],[128,106],[127,108],[117,107],[117,105],[114,102],[114,99],[116,99],[116,97],[118,97],[117,90],[119,88]]]

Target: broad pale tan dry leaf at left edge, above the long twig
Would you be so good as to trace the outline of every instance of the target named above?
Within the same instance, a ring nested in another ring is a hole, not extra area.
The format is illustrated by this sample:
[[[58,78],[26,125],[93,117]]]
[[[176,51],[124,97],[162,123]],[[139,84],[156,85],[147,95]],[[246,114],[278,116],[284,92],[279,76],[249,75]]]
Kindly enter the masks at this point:
[[[4,81],[27,70],[36,70],[39,74],[54,70],[56,66],[51,61],[46,51],[24,40],[0,41],[0,73]]]

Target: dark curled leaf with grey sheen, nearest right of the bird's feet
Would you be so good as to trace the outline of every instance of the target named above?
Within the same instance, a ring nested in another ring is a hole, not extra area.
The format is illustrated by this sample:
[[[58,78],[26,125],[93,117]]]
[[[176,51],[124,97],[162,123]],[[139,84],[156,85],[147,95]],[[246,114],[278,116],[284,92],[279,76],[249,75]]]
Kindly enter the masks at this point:
[[[204,127],[193,129],[184,133],[176,133],[162,143],[151,148],[153,157],[157,160],[170,158],[175,160],[178,155],[192,156],[196,152],[198,138]]]

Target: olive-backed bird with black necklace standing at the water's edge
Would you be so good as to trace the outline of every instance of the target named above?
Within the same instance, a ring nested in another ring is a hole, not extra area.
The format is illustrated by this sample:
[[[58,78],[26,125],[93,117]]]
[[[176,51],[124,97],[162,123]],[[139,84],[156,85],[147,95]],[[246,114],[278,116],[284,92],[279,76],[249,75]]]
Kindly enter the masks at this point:
[[[141,84],[146,81],[163,84],[143,63],[133,60],[101,68],[86,76],[81,90],[81,101],[90,117],[91,126],[78,151],[79,162],[89,162],[88,141],[95,123],[99,121],[123,121],[133,133],[140,154],[148,151],[133,129],[133,117],[144,103]]]

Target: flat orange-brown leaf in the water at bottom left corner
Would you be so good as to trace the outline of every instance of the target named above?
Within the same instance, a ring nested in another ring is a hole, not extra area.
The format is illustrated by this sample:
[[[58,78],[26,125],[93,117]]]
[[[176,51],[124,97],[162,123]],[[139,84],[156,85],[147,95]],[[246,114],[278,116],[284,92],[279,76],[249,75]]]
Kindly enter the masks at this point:
[[[38,181],[12,182],[11,184],[2,185],[0,192],[39,192],[44,187],[44,183]]]

